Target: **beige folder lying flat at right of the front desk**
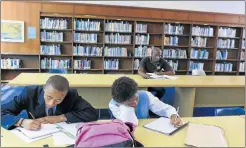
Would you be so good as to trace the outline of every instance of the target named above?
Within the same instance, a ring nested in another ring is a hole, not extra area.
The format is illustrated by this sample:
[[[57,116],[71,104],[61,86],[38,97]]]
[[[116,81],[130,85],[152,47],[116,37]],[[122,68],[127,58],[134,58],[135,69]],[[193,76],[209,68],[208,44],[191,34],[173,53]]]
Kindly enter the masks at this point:
[[[189,123],[184,143],[195,147],[228,147],[222,128],[197,123]]]

